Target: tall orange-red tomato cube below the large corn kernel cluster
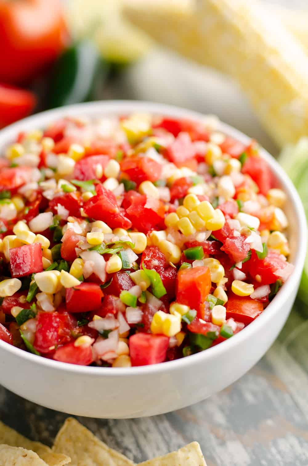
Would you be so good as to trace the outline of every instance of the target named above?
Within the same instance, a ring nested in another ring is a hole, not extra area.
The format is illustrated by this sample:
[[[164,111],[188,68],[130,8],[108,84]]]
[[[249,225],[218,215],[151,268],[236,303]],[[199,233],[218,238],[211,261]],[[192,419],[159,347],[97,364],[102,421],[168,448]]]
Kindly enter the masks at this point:
[[[176,301],[191,309],[199,309],[211,289],[211,275],[208,267],[194,267],[179,270],[176,285]]]

